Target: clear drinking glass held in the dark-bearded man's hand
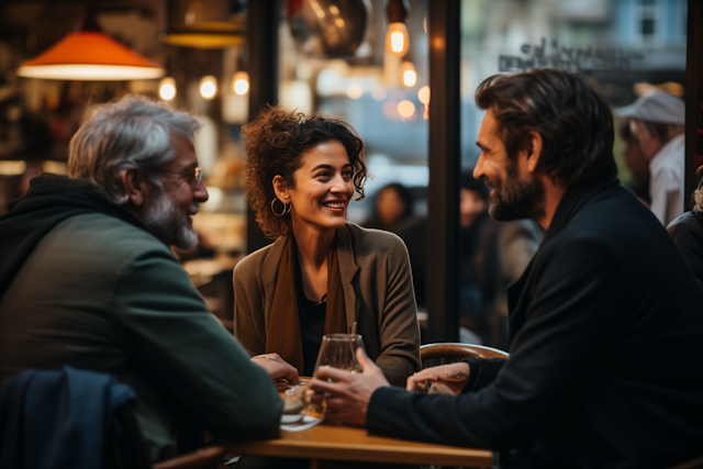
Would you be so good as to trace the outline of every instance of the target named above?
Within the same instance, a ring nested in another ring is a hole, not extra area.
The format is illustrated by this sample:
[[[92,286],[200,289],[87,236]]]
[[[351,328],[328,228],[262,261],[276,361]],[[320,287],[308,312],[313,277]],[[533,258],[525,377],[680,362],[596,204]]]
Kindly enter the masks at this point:
[[[352,372],[361,372],[361,366],[356,359],[356,350],[364,348],[364,339],[359,334],[330,334],[322,337],[320,354],[313,376],[320,367],[339,368]],[[308,414],[323,417],[327,402],[322,395],[309,395]]]

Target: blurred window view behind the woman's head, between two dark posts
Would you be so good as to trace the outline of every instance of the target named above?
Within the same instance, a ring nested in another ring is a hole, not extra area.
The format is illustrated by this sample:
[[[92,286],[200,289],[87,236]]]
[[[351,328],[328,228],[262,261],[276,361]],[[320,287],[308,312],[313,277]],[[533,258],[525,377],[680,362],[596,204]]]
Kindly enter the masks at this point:
[[[358,48],[346,55],[319,47],[321,40],[308,30],[310,21],[304,18],[308,3],[300,4],[300,10],[286,11],[279,30],[279,102],[305,113],[342,119],[364,139],[375,179],[366,183],[367,199],[349,205],[350,221],[361,222],[370,216],[379,189],[392,182],[420,189],[415,200],[419,212],[424,212],[428,123],[421,101],[424,98],[419,92],[428,85],[428,40],[423,26],[427,1],[410,1],[405,22],[409,48],[403,56],[386,48],[386,1],[367,2],[370,8],[366,34]],[[343,32],[347,25],[356,24],[346,3],[328,8],[322,2],[310,4],[320,9],[314,11],[315,18],[321,22],[330,19]]]

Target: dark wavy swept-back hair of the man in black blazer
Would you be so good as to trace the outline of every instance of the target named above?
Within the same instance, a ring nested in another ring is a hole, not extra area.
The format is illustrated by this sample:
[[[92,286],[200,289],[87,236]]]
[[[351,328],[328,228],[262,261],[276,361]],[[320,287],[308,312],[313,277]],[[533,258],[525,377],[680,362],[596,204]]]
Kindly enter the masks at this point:
[[[588,78],[553,68],[494,75],[478,87],[476,102],[493,110],[510,158],[531,132],[542,135],[540,160],[556,182],[570,188],[617,176],[613,114]]]

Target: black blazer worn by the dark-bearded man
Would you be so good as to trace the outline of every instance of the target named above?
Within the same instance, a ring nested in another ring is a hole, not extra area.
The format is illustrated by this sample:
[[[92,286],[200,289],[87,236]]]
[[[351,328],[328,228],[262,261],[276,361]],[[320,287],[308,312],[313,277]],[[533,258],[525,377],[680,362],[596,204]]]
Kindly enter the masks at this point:
[[[369,429],[498,449],[505,466],[665,468],[703,450],[703,312],[685,259],[617,180],[568,190],[507,289],[510,360],[468,393],[381,388]]]

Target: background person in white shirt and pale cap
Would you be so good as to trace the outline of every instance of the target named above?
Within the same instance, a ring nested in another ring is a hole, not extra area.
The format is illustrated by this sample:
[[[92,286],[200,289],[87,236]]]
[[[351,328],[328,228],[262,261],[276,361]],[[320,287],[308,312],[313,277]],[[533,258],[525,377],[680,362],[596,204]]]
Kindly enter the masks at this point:
[[[616,109],[615,115],[629,119],[633,134],[649,160],[649,208],[667,226],[683,213],[683,100],[666,92],[655,92]]]

